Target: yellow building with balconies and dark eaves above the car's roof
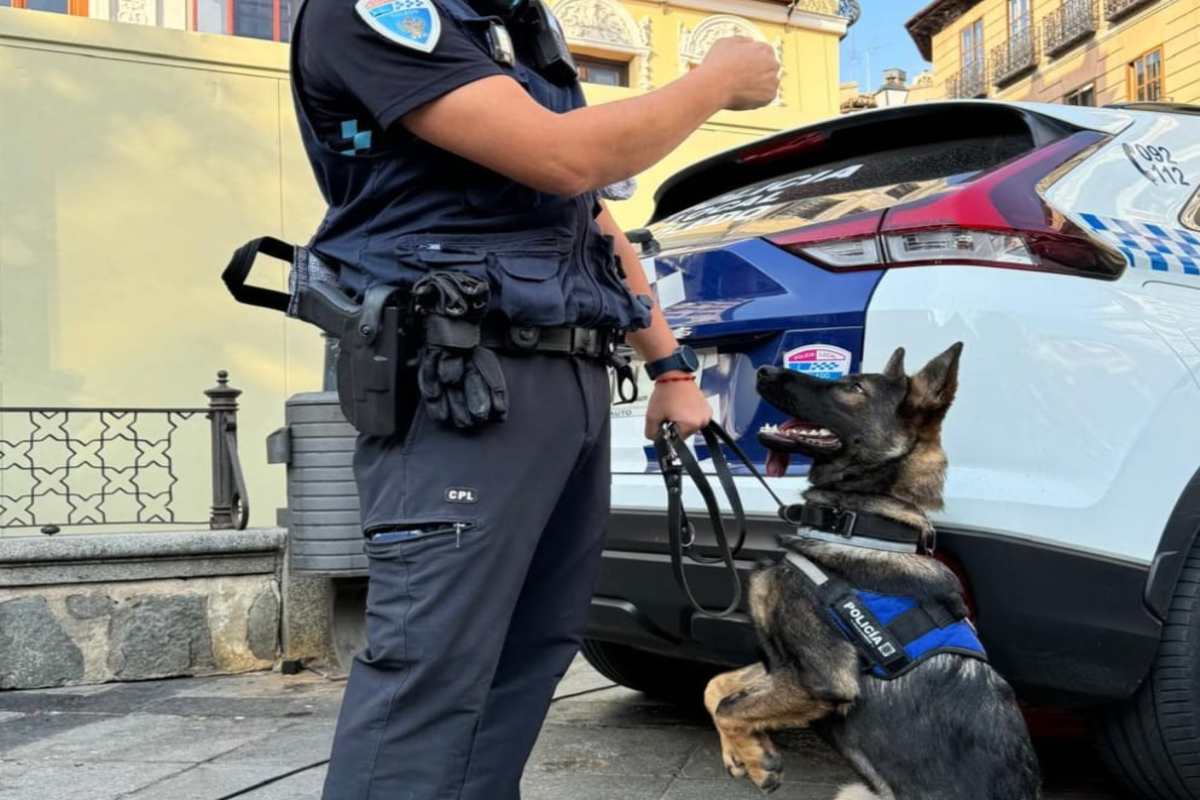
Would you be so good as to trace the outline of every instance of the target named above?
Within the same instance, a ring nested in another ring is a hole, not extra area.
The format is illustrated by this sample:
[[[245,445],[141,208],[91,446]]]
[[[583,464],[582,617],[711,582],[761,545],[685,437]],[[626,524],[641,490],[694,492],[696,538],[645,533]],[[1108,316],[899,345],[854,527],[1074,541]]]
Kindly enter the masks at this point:
[[[936,0],[907,28],[937,97],[1200,103],[1200,0]]]

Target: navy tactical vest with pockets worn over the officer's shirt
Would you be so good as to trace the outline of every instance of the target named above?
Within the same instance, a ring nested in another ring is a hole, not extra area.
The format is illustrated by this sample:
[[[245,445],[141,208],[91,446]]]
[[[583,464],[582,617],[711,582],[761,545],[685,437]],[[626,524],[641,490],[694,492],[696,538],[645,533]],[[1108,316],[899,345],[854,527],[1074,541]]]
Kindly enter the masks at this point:
[[[491,59],[481,17],[462,0],[434,0]],[[304,6],[296,14],[299,41]],[[377,284],[409,287],[428,270],[486,277],[491,311],[520,325],[635,330],[649,324],[648,299],[622,279],[612,239],[596,224],[595,193],[558,197],[436,148],[416,137],[403,148],[338,151],[314,132],[305,110],[298,47],[293,100],[300,134],[329,205],[308,247],[340,265],[355,294]],[[578,83],[559,86],[521,61],[499,65],[535,101],[564,113],[584,104]],[[401,137],[401,139],[403,139]]]

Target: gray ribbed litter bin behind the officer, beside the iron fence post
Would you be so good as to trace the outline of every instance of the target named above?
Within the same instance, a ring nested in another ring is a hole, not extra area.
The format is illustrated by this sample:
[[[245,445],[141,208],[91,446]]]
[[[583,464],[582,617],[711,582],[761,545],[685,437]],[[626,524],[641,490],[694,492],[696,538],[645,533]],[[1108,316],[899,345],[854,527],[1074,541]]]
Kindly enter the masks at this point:
[[[288,467],[287,528],[292,571],[356,577],[367,573],[359,494],[354,486],[354,440],[337,392],[293,395],[287,426],[266,439],[266,458]]]

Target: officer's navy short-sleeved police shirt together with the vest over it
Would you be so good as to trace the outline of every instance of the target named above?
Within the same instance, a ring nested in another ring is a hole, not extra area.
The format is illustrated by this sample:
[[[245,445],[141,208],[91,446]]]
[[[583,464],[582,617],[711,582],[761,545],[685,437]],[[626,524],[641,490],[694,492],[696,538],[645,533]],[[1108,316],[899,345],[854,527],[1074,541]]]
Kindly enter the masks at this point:
[[[647,306],[620,279],[595,221],[595,193],[538,192],[403,126],[414,109],[493,76],[515,79],[556,113],[584,104],[578,83],[557,85],[528,66],[520,31],[510,31],[514,62],[498,61],[488,29],[499,20],[464,0],[364,2],[390,14],[400,32],[376,31],[353,0],[306,0],[295,22],[296,112],[329,204],[312,249],[338,263],[354,293],[457,269],[486,275],[492,309],[514,323],[644,327]],[[414,13],[425,14],[415,28],[400,24]],[[430,52],[403,41],[413,30],[428,37]]]

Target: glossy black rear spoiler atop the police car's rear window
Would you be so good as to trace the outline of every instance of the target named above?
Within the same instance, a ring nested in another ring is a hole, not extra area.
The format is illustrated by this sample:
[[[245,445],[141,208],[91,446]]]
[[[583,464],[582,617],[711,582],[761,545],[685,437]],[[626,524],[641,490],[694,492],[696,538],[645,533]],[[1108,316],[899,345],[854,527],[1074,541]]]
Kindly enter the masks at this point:
[[[744,186],[906,144],[1024,133],[1042,146],[1079,128],[1028,108],[990,102],[898,106],[848,114],[758,139],[697,162],[654,193],[650,224]]]

